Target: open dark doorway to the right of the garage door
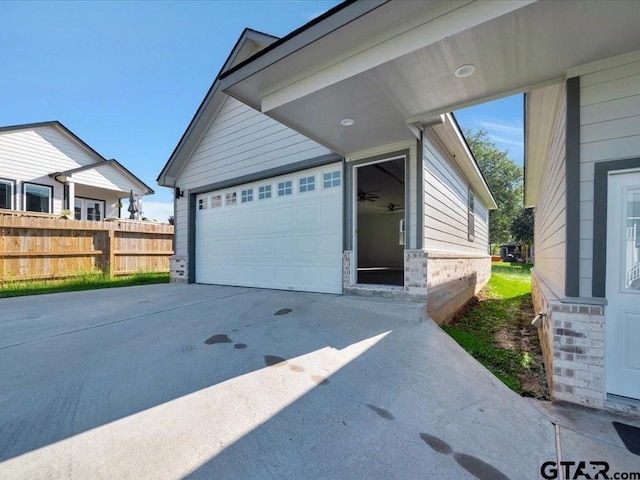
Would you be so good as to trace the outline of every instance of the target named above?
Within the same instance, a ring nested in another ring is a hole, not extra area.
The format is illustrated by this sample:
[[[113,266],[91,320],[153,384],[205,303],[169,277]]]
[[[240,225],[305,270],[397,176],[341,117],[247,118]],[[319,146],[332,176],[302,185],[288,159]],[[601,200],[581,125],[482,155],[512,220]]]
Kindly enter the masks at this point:
[[[357,283],[404,285],[405,158],[356,172]]]

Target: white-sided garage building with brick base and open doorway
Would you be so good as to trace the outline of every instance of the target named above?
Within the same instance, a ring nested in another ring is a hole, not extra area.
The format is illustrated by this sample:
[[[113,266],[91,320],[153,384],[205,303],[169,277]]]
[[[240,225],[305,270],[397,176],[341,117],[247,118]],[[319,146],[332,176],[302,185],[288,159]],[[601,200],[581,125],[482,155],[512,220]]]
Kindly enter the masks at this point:
[[[221,87],[281,42],[242,34],[158,178],[175,189],[174,281],[428,299],[447,320],[488,281],[495,208],[454,117],[366,145],[298,133]],[[315,107],[299,113],[359,131],[358,112]]]

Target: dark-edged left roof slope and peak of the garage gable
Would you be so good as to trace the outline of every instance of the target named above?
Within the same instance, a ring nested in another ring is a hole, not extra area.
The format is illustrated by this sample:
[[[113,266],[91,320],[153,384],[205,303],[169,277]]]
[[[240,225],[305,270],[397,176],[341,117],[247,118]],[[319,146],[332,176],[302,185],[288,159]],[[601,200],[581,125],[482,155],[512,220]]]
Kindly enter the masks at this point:
[[[169,157],[160,175],[158,175],[158,184],[166,187],[175,186],[174,182],[176,177],[216,117],[224,99],[227,97],[219,88],[220,78],[224,72],[252,58],[254,54],[277,40],[278,37],[245,28],[227,57],[227,60],[222,65],[213,84],[209,87],[209,91],[191,119],[189,126],[180,138],[176,148],[173,150],[171,157]]]

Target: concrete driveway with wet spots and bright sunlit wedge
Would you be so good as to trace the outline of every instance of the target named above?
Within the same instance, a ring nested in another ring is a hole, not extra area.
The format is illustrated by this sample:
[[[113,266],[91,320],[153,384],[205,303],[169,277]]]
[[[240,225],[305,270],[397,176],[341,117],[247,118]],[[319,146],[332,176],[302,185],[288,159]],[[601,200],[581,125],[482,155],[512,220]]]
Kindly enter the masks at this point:
[[[530,479],[556,460],[549,418],[419,304],[205,285],[0,302],[3,479]]]

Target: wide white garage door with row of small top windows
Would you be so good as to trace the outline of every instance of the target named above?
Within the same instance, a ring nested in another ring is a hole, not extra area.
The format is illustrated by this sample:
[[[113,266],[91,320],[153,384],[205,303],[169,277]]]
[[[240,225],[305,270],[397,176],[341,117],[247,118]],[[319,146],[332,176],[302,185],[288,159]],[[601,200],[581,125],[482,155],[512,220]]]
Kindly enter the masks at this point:
[[[342,293],[342,166],[203,193],[196,282]]]

